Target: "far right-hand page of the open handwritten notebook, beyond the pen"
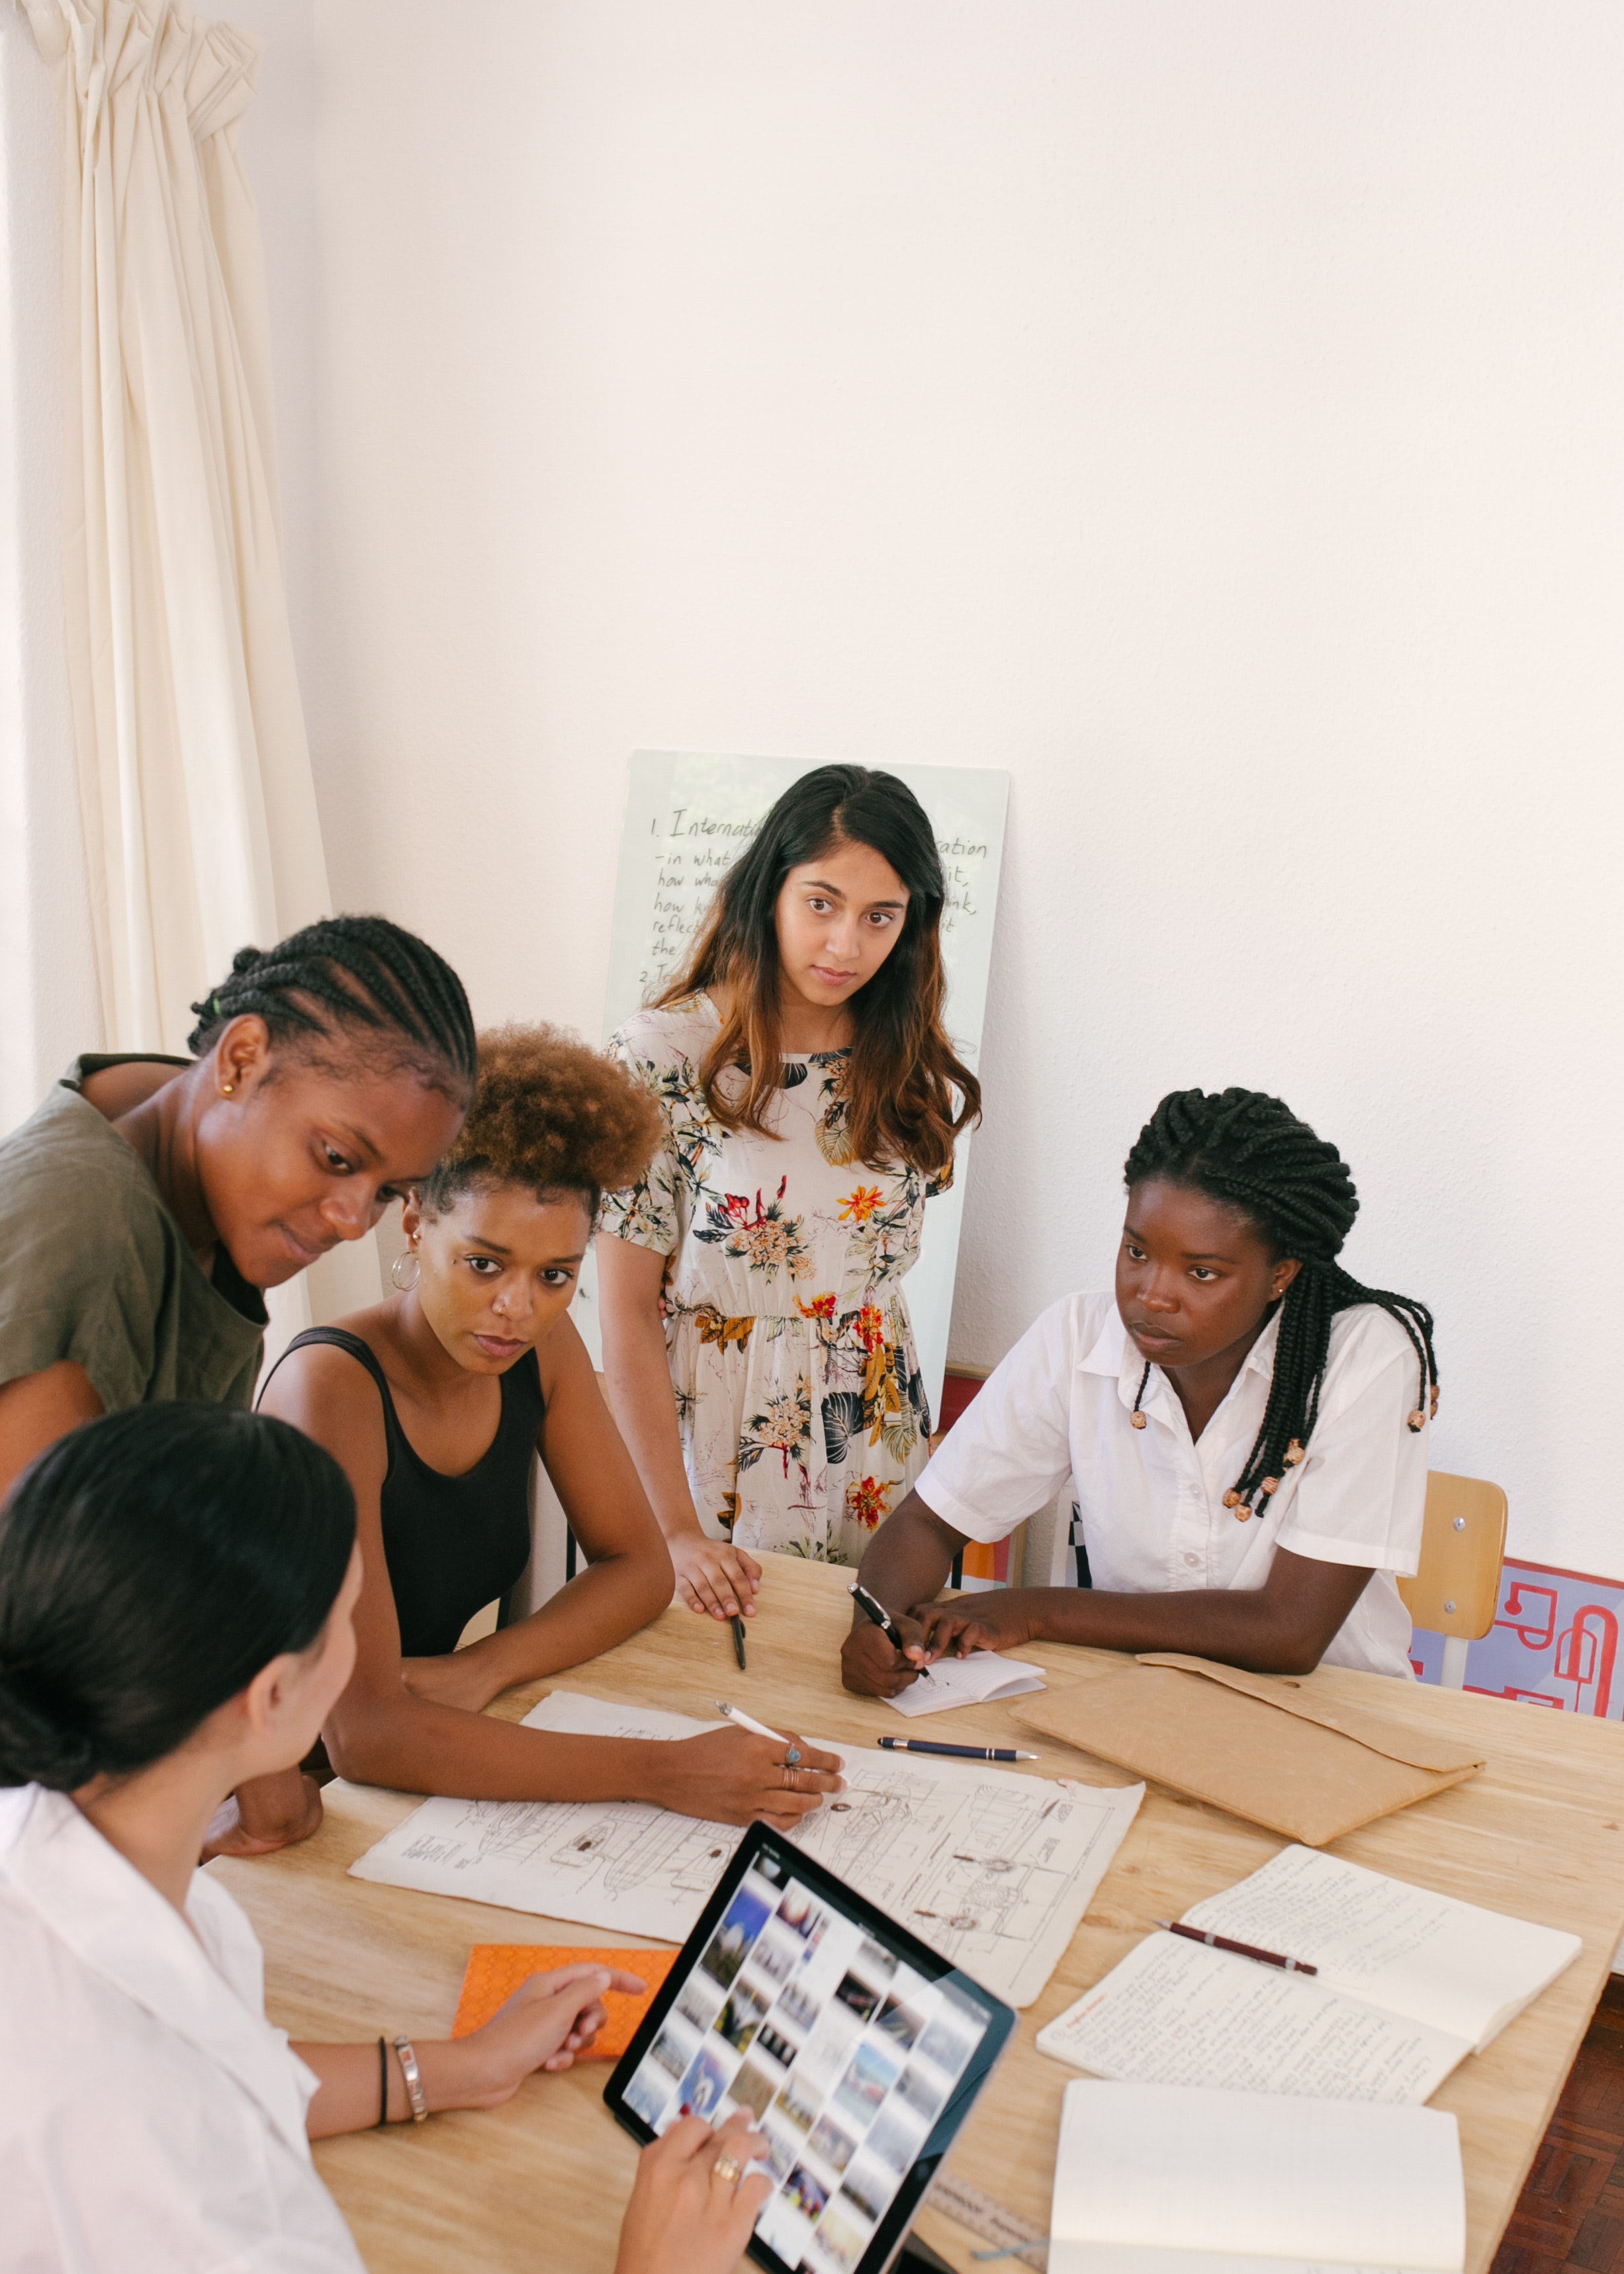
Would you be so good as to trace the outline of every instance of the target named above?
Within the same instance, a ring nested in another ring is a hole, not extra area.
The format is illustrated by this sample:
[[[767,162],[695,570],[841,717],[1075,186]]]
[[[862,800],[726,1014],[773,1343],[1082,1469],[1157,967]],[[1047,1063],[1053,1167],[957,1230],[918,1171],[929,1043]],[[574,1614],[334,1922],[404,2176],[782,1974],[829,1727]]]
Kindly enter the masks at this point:
[[[1281,1849],[1185,1912],[1190,1926],[1319,1967],[1321,1990],[1410,2015],[1476,2051],[1579,1958],[1579,1935],[1508,1919],[1319,1849]]]

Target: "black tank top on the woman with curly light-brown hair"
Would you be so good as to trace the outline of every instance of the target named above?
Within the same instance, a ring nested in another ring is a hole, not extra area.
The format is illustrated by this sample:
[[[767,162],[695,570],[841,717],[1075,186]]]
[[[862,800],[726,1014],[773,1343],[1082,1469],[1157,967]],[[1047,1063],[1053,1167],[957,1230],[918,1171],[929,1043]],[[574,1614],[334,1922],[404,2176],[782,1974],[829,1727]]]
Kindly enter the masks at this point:
[[[348,1351],[378,1383],[389,1446],[384,1560],[400,1655],[441,1658],[457,1649],[473,1612],[507,1594],[530,1562],[530,1458],[546,1412],[537,1353],[525,1351],[503,1373],[503,1419],[487,1453],[464,1476],[444,1476],[412,1451],[384,1369],[362,1337],[341,1326],[312,1326],[287,1348],[303,1351],[312,1342]]]

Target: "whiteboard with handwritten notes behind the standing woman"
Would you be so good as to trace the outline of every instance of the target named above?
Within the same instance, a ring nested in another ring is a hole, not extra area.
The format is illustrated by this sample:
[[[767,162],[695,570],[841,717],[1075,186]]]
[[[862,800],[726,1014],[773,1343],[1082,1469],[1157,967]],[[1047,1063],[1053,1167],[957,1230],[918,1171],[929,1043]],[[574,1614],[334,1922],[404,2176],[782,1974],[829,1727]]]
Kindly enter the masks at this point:
[[[819,760],[819,764],[826,764]],[[687,946],[769,807],[814,769],[794,757],[723,757],[698,750],[635,750],[625,785],[625,828],[614,887],[605,1039],[680,971]],[[980,1026],[992,969],[992,923],[1003,866],[1003,816],[1010,775],[996,766],[885,766],[914,791],[942,853],[946,907],[942,962],[946,1028],[971,1071],[980,1060]],[[942,1410],[953,1273],[964,1219],[969,1135],[958,1142],[953,1189],[926,1205],[919,1262],[908,1273],[919,1369],[930,1412]],[[598,1342],[596,1273],[582,1273],[575,1323],[594,1364]]]

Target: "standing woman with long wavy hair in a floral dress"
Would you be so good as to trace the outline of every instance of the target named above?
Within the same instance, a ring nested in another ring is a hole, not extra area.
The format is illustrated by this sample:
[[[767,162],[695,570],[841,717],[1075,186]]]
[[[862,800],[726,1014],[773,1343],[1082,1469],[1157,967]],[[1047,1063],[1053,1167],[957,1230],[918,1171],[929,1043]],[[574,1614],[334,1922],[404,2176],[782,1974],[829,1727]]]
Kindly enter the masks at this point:
[[[610,1046],[664,1121],[603,1203],[610,1401],[678,1592],[719,1619],[755,1608],[746,1549],[860,1562],[926,1462],[903,1276],[980,1114],[942,1026],[944,894],[905,782],[819,766]]]

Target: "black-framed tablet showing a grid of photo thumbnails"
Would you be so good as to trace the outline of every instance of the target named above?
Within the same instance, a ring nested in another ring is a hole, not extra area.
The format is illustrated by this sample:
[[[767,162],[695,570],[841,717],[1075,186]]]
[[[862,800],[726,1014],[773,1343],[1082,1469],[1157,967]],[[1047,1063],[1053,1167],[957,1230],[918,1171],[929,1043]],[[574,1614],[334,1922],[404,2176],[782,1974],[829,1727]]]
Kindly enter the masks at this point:
[[[641,2142],[746,2108],[773,2178],[751,2258],[880,2274],[1012,2028],[1012,2006],[753,1824],[603,2097]]]

